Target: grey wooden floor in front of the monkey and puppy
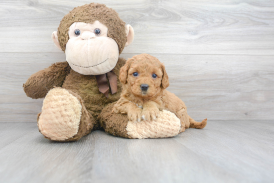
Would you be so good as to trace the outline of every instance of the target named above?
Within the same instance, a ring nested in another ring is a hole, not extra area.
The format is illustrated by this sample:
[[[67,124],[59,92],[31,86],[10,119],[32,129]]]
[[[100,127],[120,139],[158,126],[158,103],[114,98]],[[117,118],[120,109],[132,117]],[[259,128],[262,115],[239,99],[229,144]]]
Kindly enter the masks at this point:
[[[95,131],[44,139],[35,123],[0,123],[0,183],[273,183],[274,121],[210,121],[173,138]]]

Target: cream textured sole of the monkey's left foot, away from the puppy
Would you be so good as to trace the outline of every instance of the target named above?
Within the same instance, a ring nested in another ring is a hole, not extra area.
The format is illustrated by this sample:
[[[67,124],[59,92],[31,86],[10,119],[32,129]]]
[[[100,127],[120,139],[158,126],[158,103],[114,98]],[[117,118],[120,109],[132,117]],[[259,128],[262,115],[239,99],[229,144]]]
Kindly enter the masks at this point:
[[[80,101],[67,90],[54,88],[44,101],[38,126],[51,140],[66,140],[78,133],[82,114]]]

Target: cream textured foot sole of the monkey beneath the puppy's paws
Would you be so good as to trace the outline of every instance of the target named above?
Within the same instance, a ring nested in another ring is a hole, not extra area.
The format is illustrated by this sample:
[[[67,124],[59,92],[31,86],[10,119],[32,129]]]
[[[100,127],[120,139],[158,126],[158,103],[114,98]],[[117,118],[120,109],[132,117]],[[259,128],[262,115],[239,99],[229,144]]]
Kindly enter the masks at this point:
[[[180,119],[174,113],[162,110],[153,121],[129,121],[126,130],[135,139],[145,139],[173,137],[179,133],[180,128]]]

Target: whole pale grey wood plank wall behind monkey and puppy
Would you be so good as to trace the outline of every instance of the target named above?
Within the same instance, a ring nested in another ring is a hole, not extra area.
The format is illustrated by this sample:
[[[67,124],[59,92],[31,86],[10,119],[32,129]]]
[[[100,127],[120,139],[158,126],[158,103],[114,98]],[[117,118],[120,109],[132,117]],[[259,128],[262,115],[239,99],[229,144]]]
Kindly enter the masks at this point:
[[[93,0],[135,30],[121,57],[166,65],[169,91],[201,120],[274,119],[274,0]],[[73,7],[91,0],[0,0],[0,122],[35,122],[42,99],[27,78],[65,61],[51,40]]]

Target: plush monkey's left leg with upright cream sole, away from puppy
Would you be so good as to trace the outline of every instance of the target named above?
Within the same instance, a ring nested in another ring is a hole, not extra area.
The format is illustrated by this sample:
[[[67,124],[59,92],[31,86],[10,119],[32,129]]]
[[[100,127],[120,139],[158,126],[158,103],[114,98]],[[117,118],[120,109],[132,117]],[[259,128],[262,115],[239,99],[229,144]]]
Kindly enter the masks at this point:
[[[76,141],[96,124],[81,97],[63,88],[51,89],[37,117],[39,131],[54,141]]]

